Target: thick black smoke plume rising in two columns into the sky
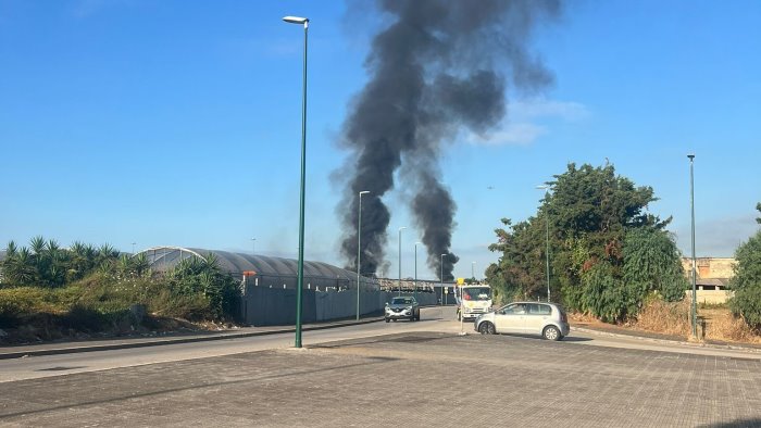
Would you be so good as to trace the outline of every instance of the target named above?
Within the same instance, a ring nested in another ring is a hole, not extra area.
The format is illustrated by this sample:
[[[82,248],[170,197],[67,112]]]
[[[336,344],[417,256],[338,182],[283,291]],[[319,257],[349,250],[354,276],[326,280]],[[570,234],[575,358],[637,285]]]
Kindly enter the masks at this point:
[[[526,47],[537,23],[559,15],[560,2],[378,0],[376,5],[389,24],[372,41],[365,62],[370,81],[342,129],[355,162],[339,172],[349,172],[338,207],[344,230],[350,230],[341,253],[347,268],[355,269],[358,193],[370,190],[362,197],[360,272],[385,275],[390,212],[382,198],[396,178],[413,194],[428,267],[451,280],[457,204],[440,180],[440,153],[462,128],[483,134],[502,119],[509,83],[534,90],[552,81]]]

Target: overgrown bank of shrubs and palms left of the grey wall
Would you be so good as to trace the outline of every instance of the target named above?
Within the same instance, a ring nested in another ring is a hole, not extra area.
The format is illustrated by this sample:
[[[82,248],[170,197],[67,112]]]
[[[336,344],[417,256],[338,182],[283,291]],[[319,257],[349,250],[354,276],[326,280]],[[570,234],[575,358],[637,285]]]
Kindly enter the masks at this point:
[[[157,273],[145,254],[37,237],[9,242],[0,268],[0,341],[195,328],[232,320],[237,307],[238,284],[213,254]]]

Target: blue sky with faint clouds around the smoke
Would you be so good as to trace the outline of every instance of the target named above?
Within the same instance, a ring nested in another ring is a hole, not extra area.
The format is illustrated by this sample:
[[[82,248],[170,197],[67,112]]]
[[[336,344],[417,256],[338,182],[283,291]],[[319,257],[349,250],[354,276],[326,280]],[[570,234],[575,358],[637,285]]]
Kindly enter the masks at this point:
[[[474,2],[475,3],[475,2]],[[0,0],[0,248],[42,235],[122,251],[183,246],[296,257],[303,33],[311,18],[308,260],[341,266],[336,143],[383,26],[338,1]],[[482,276],[499,218],[536,212],[536,186],[606,160],[652,186],[649,210],[698,256],[731,256],[761,201],[761,2],[574,1],[538,28],[554,74],[507,93],[508,117],[461,135],[441,162],[458,204],[458,277]],[[387,255],[414,275],[399,192]],[[255,241],[252,241],[255,238]],[[420,278],[434,279],[419,247]],[[475,264],[473,264],[475,262]]]

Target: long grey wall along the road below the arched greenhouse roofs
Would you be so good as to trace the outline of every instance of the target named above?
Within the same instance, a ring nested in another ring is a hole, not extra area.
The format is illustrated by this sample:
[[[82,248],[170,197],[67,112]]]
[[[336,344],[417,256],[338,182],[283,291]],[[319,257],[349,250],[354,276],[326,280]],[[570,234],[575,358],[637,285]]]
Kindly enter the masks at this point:
[[[360,314],[382,314],[386,302],[397,293],[387,291],[361,291]],[[408,295],[406,293],[406,295]],[[422,305],[434,305],[435,293],[417,293]],[[284,326],[296,324],[296,289],[246,286],[241,298],[242,320],[253,326]],[[357,290],[315,291],[303,290],[301,295],[301,322],[320,323],[357,316]]]

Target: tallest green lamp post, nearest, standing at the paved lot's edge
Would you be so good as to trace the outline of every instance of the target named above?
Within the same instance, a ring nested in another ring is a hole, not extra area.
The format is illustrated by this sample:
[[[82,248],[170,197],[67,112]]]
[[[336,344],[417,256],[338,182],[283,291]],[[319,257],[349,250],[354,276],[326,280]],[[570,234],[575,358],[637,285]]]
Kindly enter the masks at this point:
[[[299,24],[304,28],[303,53],[303,89],[301,97],[301,192],[299,197],[299,267],[296,284],[296,342],[295,348],[301,348],[301,294],[304,282],[304,186],[307,175],[307,39],[309,33],[309,18],[299,16],[285,16],[283,21],[289,24]]]

